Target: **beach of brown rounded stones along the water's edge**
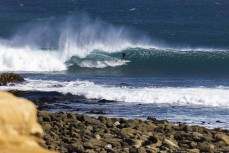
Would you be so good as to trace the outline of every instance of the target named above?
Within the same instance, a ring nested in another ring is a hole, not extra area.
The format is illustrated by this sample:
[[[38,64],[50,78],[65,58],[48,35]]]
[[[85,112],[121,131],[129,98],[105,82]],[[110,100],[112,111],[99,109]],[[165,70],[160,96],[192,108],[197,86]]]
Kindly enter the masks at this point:
[[[227,130],[46,111],[38,119],[46,147],[61,153],[229,152]]]

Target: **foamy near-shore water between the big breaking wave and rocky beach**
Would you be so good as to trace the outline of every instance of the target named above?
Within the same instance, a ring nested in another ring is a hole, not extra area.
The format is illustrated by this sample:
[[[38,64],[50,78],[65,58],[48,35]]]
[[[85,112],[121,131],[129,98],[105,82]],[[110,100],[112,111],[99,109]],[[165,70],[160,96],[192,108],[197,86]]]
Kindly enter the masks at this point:
[[[209,86],[211,81],[206,80],[188,80],[182,85],[181,82],[185,82],[182,79],[143,81],[142,78],[96,78],[49,73],[21,75],[25,76],[25,82],[1,86],[0,89],[27,91],[27,98],[36,97],[35,93],[41,98],[45,95],[49,97],[53,92],[66,95],[62,103],[54,102],[50,106],[47,103],[50,111],[87,114],[93,109],[107,112],[107,117],[146,119],[153,116],[208,128],[229,128],[229,86],[225,80],[218,83],[225,86],[214,83]],[[68,100],[69,96],[73,99]]]

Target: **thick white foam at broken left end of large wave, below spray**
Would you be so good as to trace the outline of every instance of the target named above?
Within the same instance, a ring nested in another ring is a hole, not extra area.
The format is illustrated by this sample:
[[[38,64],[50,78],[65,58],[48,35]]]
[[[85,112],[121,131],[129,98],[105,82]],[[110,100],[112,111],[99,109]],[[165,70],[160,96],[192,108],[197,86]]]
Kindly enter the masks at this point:
[[[63,71],[64,62],[57,51],[0,45],[0,71]]]

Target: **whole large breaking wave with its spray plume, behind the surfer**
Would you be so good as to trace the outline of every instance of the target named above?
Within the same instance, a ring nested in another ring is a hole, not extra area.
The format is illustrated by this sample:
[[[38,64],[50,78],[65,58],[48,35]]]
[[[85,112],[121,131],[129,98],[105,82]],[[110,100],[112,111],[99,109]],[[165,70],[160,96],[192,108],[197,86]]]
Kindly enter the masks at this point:
[[[0,40],[1,71],[229,74],[228,66],[228,50],[170,47],[84,15],[60,23],[31,23]]]

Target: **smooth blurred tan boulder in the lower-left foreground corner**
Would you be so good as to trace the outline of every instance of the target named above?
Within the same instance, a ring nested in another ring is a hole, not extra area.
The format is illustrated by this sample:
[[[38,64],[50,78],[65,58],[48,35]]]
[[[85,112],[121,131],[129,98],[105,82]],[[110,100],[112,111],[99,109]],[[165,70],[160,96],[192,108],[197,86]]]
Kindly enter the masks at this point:
[[[51,153],[32,102],[0,91],[0,153]]]

